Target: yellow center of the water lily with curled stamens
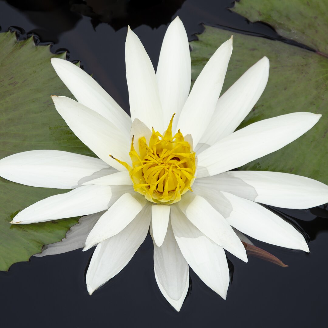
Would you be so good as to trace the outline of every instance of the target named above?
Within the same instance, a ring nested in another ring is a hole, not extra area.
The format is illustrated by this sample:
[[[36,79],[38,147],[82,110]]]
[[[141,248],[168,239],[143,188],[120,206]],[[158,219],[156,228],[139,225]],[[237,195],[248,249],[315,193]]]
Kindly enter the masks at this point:
[[[180,130],[172,136],[173,117],[164,136],[153,128],[149,145],[144,136],[139,138],[139,152],[134,149],[132,137],[132,167],[111,156],[129,171],[134,190],[153,203],[178,202],[191,190],[195,179],[195,152]]]

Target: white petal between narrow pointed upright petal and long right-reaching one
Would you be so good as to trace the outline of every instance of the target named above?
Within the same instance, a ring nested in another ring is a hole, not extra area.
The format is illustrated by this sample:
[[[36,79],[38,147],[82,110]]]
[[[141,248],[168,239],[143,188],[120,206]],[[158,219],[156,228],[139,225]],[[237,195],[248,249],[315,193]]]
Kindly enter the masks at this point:
[[[269,67],[269,59],[263,57],[218,99],[211,122],[200,142],[213,145],[236,130],[264,91]]]

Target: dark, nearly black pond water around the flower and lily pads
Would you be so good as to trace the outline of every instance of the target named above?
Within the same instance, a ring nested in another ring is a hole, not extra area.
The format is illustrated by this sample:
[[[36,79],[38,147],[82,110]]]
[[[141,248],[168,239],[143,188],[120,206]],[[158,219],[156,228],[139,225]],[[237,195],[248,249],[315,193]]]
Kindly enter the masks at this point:
[[[200,23],[281,39],[269,26],[250,24],[231,13],[232,1],[0,1],[2,31],[15,27],[20,38],[34,32],[52,51],[68,49],[84,69],[125,109],[124,43],[130,24],[154,65],[166,27],[179,15],[189,39]],[[284,40],[283,40],[284,41]],[[92,297],[85,269],[93,249],[31,258],[0,272],[3,327],[327,327],[328,211],[274,209],[307,236],[305,254],[257,242],[288,268],[255,257],[245,264],[228,254],[232,283],[227,300],[191,271],[191,287],[180,313],[160,294],[150,236],[130,263]]]

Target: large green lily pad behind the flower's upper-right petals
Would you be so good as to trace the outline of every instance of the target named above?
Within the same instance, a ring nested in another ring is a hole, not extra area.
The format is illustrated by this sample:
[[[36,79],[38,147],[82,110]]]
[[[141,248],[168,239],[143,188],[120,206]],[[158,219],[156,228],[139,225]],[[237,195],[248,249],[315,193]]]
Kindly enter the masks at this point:
[[[207,26],[198,36],[199,40],[190,43],[193,80],[231,34],[231,31]],[[279,41],[235,32],[233,36],[234,50],[222,93],[260,58],[266,55],[270,59],[267,87],[238,129],[287,113],[323,114],[315,127],[296,141],[240,169],[293,173],[328,184],[328,59]]]

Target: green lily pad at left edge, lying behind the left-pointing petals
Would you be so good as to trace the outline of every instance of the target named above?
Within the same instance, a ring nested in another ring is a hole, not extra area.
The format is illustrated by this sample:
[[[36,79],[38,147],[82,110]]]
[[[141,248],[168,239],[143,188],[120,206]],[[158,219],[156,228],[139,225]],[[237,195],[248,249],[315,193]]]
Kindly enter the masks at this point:
[[[0,33],[0,158],[28,150],[55,149],[93,155],[67,127],[50,95],[72,97],[52,69],[49,46],[33,39],[17,41]],[[94,155],[93,155],[94,156]],[[0,178],[0,270],[27,261],[42,245],[65,237],[78,218],[29,225],[10,225],[20,210],[64,190],[27,187]]]

